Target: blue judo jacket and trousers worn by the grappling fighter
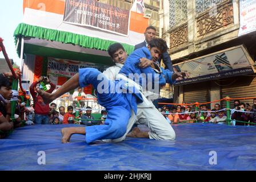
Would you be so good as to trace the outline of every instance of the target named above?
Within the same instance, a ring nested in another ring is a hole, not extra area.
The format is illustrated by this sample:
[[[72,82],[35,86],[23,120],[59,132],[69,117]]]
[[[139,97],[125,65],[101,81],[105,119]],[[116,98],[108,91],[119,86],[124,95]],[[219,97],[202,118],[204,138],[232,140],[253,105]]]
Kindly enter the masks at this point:
[[[169,69],[162,69],[162,73],[155,73],[150,67],[139,68],[139,59],[142,57],[151,59],[149,49],[146,47],[139,48],[131,53],[119,73],[127,77],[129,73],[151,73],[152,77],[159,76],[159,80],[157,80],[159,82],[157,84],[161,86],[165,85],[166,82],[172,84],[172,73]],[[127,86],[124,80],[112,81],[107,79],[107,77],[97,69],[79,69],[79,86],[85,87],[89,84],[92,84],[97,90],[98,102],[106,108],[108,114],[105,125],[86,127],[86,143],[91,143],[95,140],[117,139],[122,137],[126,133],[127,124],[131,117],[131,109],[133,109],[136,114],[137,104],[143,102],[141,93],[139,93],[139,90],[134,86]],[[119,91],[126,90],[126,93],[116,92],[113,88],[119,88]]]

